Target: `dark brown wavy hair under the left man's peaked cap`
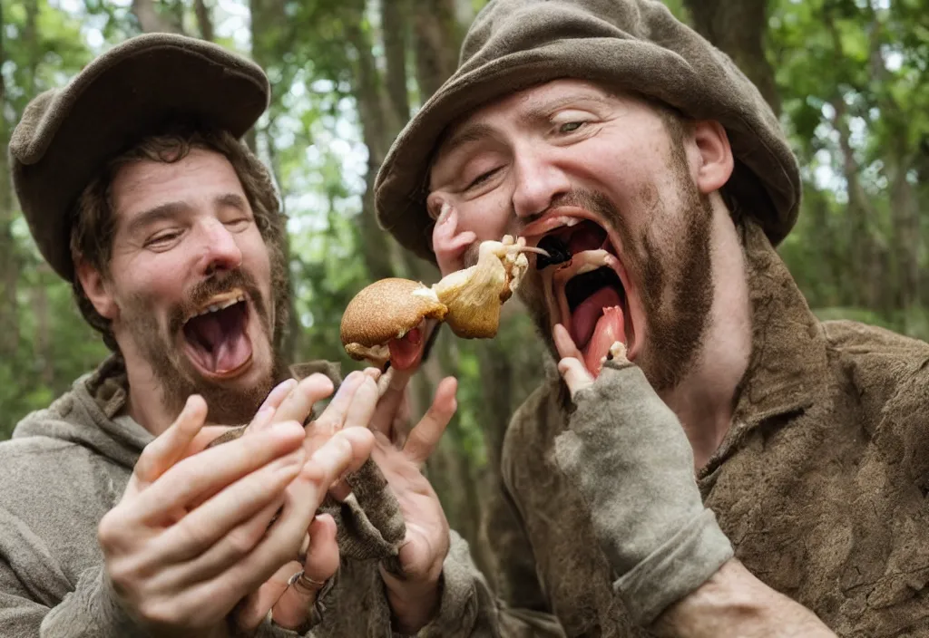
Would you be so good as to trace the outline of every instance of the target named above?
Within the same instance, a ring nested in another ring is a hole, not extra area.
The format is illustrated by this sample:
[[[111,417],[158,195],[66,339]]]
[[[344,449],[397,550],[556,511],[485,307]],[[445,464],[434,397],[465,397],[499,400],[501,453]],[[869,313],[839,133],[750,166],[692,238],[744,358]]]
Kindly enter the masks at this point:
[[[286,220],[281,213],[268,170],[248,147],[226,131],[174,126],[162,133],[145,137],[134,147],[111,159],[98,176],[85,187],[74,206],[72,259],[75,262],[83,259],[103,277],[109,277],[112,242],[116,232],[116,215],[112,200],[112,183],[116,173],[125,165],[140,160],[174,163],[187,157],[191,148],[211,150],[224,156],[232,164],[242,183],[242,190],[255,214],[258,231],[270,252],[271,289],[275,296],[274,335],[275,345],[278,345],[283,328],[287,325],[290,307],[284,254]],[[119,352],[110,320],[97,312],[76,275],[72,288],[74,299],[87,323],[98,330],[103,336],[103,342],[111,351]]]

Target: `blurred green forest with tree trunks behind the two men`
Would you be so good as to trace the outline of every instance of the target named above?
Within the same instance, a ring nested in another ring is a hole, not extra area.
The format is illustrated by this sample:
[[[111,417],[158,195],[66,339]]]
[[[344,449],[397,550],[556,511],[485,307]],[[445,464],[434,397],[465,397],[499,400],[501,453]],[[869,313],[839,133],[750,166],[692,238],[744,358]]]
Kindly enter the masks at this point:
[[[248,135],[290,218],[294,313],[285,355],[357,367],[342,309],[373,279],[438,274],[373,221],[370,186],[391,140],[454,70],[486,0],[0,0],[0,439],[106,354],[21,218],[7,143],[29,99],[139,32],[184,32],[255,59],[273,97]],[[823,318],[929,338],[929,2],[668,0],[752,78],[804,167],[805,201],[780,248]],[[75,160],[80,160],[75,158]],[[498,338],[444,330],[417,376],[421,415],[441,376],[459,413],[429,467],[453,528],[486,567],[481,521],[509,416],[543,353],[516,303]]]

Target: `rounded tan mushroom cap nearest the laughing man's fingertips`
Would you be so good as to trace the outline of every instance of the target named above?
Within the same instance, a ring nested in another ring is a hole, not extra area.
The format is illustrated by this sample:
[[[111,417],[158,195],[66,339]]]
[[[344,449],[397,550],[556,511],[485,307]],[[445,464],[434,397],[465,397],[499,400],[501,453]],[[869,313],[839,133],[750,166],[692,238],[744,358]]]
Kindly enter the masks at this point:
[[[424,292],[412,294],[416,290]],[[426,317],[442,321],[447,312],[424,284],[399,277],[380,279],[362,288],[348,303],[342,314],[342,345],[384,345],[401,338]]]

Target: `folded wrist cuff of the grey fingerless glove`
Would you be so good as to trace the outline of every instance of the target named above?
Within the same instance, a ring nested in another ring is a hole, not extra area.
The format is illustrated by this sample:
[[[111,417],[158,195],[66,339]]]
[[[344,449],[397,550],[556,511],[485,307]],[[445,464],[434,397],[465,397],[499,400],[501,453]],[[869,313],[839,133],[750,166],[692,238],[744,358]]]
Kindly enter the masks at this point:
[[[647,627],[661,612],[708,581],[734,555],[732,543],[704,509],[661,547],[613,583],[630,616]]]

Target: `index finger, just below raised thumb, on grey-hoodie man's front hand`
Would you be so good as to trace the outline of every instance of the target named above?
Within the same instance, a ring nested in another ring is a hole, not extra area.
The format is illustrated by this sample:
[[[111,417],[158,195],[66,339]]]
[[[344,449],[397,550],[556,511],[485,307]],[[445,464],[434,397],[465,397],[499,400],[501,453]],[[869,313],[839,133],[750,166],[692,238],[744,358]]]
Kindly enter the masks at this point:
[[[157,521],[164,511],[187,506],[203,493],[215,493],[259,467],[293,453],[304,438],[303,427],[291,421],[190,456],[139,494],[128,508],[127,516]]]

